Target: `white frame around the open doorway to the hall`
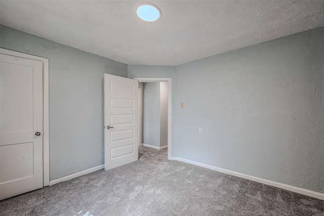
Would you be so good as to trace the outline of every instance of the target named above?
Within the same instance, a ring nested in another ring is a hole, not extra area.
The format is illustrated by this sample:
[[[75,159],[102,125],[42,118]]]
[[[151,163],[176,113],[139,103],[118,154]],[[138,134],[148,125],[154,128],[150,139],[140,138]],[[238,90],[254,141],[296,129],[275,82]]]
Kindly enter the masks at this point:
[[[168,82],[168,159],[172,160],[172,78],[134,77],[138,82]]]

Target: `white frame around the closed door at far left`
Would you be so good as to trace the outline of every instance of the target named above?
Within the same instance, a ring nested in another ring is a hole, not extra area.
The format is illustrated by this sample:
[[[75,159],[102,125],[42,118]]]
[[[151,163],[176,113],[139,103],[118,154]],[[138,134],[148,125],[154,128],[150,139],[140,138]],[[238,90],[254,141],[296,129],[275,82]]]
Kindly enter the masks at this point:
[[[43,186],[50,185],[49,60],[0,48],[0,53],[43,62]]]

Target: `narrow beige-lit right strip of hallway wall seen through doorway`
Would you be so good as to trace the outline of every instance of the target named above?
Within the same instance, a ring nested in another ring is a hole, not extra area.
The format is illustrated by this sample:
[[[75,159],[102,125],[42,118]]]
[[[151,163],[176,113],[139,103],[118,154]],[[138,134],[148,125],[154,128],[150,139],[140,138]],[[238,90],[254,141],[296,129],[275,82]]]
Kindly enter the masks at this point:
[[[168,82],[160,82],[160,147],[168,145]]]

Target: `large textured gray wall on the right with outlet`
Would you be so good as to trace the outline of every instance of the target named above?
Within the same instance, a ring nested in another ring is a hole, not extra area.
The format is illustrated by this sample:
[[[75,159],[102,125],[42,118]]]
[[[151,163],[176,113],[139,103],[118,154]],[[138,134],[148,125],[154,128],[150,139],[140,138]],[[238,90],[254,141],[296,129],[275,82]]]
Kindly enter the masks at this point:
[[[323,91],[324,27],[179,65],[172,155],[323,193]]]

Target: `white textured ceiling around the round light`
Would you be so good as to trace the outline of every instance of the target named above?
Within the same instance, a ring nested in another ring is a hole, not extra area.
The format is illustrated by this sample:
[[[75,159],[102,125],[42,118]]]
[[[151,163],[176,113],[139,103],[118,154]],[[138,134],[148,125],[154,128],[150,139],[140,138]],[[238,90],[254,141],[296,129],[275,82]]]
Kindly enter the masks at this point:
[[[324,1],[1,1],[0,22],[125,64],[178,65],[324,26]]]

